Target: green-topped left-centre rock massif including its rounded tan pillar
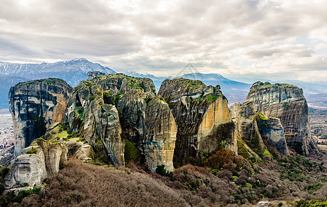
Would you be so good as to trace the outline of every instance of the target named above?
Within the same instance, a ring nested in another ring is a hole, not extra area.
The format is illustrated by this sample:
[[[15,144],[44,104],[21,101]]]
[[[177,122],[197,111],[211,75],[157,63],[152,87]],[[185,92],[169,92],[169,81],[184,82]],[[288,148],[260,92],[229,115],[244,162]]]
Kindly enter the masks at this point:
[[[154,93],[150,79],[100,75],[76,87],[66,120],[104,160],[124,166],[127,139],[143,152],[151,170],[163,164],[173,171],[177,127],[168,104]]]

